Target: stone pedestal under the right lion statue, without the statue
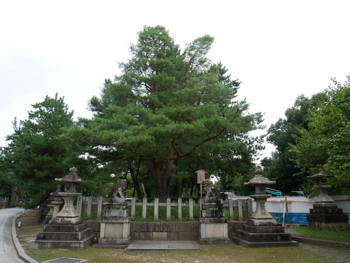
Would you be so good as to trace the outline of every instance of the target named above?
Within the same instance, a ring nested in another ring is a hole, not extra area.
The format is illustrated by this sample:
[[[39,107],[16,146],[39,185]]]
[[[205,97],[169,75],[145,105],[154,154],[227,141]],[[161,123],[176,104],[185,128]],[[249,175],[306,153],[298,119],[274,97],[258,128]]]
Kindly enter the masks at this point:
[[[224,217],[222,199],[204,198],[200,208],[200,244],[229,245],[227,217]]]

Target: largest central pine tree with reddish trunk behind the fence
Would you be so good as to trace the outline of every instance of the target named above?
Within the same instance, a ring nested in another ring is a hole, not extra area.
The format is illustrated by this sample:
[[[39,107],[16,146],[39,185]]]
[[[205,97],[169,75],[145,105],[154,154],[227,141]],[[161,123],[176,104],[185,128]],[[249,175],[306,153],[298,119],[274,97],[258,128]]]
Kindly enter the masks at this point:
[[[145,26],[131,59],[120,63],[123,73],[91,98],[94,116],[81,119],[75,141],[100,161],[141,160],[162,198],[180,159],[224,136],[226,143],[244,140],[261,114],[233,102],[239,82],[206,57],[212,42],[204,35],[181,52],[164,27]]]

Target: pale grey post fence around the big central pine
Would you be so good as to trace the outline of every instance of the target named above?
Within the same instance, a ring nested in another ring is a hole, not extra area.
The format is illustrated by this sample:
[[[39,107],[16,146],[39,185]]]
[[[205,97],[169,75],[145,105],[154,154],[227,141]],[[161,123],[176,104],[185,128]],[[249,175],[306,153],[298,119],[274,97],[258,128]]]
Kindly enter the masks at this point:
[[[92,196],[78,196],[76,201],[76,211],[81,216],[82,214],[86,216],[91,216],[93,211],[97,210],[97,219],[101,217],[101,213],[107,198],[102,196],[92,197]],[[177,206],[177,218],[182,220],[182,207],[189,207],[189,218],[193,219],[193,207],[200,206],[201,200],[198,203],[193,201],[192,198],[188,202],[182,202],[182,198],[178,198],[177,202],[171,202],[170,198],[166,199],[166,202],[159,202],[158,198],[154,198],[152,202],[148,202],[147,198],[143,198],[142,202],[136,202],[136,198],[131,198],[131,202],[128,202],[128,206],[131,206],[131,217],[135,216],[136,206],[142,206],[142,218],[146,218],[147,206],[153,206],[153,218],[158,219],[158,207],[166,206],[166,219],[171,217],[171,206]],[[252,202],[250,198],[246,199],[229,199],[223,203],[223,207],[228,207],[229,219],[233,220],[234,210],[238,213],[238,220],[248,218],[252,214]]]

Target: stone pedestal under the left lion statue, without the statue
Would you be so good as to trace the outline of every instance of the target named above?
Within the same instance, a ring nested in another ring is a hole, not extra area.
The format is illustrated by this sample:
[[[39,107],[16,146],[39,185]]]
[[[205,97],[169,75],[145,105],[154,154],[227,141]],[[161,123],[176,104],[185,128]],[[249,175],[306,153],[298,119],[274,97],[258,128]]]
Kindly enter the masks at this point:
[[[98,243],[93,247],[126,248],[130,244],[130,217],[126,209],[125,198],[113,198],[106,203],[103,217],[100,219],[100,235]],[[112,208],[121,209],[112,209]]]

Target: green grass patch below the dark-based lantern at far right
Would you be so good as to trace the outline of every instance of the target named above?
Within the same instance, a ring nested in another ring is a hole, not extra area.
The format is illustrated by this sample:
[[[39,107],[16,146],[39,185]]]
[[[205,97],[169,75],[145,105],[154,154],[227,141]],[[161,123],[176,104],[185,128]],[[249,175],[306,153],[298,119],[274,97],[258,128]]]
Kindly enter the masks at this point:
[[[292,229],[306,237],[350,243],[350,231],[315,231],[306,226],[295,226]]]

